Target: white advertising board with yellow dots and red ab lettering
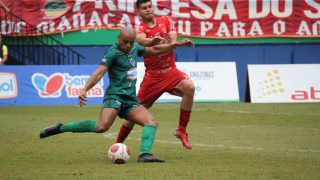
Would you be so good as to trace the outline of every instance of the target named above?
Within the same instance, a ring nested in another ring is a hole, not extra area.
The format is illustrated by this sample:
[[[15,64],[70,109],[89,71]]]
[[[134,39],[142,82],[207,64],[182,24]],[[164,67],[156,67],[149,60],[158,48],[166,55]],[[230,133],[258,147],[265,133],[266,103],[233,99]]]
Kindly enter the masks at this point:
[[[320,102],[320,64],[248,65],[253,103]]]

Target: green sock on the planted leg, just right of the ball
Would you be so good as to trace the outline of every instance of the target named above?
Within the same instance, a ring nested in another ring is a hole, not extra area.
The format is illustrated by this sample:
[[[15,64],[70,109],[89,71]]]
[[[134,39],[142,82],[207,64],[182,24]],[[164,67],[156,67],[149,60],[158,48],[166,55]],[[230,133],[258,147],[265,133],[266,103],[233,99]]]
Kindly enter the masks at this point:
[[[150,153],[157,128],[152,125],[145,125],[142,129],[140,153]]]

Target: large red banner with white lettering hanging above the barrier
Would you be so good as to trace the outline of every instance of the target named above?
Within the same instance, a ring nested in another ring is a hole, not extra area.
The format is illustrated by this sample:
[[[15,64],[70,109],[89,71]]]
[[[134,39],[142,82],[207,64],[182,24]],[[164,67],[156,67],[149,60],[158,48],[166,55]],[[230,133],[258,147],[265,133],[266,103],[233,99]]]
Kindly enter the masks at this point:
[[[34,35],[94,28],[136,28],[134,0],[2,0],[1,34]],[[200,38],[320,37],[320,0],[153,0],[179,35]],[[35,28],[32,28],[31,25]]]

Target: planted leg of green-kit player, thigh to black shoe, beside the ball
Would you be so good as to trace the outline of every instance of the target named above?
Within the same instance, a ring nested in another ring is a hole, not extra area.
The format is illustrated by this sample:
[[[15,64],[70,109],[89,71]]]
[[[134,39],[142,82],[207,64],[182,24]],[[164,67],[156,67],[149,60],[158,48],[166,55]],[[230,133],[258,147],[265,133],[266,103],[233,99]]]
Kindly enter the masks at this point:
[[[151,113],[143,106],[138,106],[128,113],[127,119],[143,126],[138,162],[164,162],[150,154],[158,126]]]

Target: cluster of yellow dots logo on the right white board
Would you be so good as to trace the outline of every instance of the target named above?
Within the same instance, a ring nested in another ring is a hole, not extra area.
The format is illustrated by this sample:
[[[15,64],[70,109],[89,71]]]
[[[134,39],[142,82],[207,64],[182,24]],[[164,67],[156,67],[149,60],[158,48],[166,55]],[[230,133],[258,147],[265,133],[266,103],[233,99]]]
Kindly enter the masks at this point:
[[[280,72],[276,69],[267,72],[264,80],[259,82],[259,86],[259,98],[264,98],[273,94],[282,94],[285,92]]]

